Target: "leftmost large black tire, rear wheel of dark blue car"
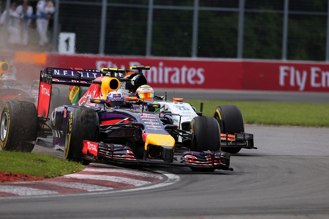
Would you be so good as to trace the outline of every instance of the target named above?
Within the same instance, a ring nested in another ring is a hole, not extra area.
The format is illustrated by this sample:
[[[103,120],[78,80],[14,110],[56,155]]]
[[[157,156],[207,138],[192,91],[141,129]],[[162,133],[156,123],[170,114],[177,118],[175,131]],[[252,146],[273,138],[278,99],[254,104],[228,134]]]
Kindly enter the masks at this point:
[[[37,140],[39,119],[33,103],[9,101],[1,113],[0,145],[2,150],[31,152]]]

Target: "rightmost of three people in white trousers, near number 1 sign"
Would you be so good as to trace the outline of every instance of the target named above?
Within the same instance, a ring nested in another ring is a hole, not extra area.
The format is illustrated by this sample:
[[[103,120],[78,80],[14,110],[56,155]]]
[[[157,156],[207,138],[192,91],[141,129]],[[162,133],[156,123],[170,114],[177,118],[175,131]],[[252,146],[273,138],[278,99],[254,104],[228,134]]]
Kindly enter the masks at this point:
[[[46,46],[48,43],[47,31],[49,19],[55,12],[54,4],[51,0],[39,0],[37,4],[37,30],[40,34],[40,46]]]

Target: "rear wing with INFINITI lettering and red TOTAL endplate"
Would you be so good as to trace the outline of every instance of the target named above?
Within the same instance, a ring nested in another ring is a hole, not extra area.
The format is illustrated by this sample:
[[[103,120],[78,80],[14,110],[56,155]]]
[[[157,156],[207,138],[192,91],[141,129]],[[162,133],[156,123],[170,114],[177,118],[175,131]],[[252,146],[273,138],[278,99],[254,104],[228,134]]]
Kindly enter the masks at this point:
[[[38,114],[48,117],[52,84],[89,87],[103,73],[93,69],[60,69],[46,67],[40,73]]]

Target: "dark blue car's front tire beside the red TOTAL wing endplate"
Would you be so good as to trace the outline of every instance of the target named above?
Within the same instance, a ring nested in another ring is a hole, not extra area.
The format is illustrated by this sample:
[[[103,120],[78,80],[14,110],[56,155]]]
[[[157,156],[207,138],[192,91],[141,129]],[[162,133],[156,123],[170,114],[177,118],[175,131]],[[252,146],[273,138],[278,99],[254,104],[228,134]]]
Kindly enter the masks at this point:
[[[91,160],[82,156],[83,140],[96,142],[99,135],[98,115],[88,108],[75,108],[70,112],[65,131],[65,158],[88,165]]]

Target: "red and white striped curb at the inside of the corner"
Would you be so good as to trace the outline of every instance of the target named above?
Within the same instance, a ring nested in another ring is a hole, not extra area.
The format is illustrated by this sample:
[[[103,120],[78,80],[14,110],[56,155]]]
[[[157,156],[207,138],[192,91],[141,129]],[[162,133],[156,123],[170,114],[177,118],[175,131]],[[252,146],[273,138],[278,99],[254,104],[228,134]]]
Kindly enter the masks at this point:
[[[30,182],[0,184],[1,197],[49,196],[81,192],[102,192],[120,189],[151,189],[178,182],[174,174],[149,173],[121,168],[87,166],[76,174]],[[133,190],[135,190],[133,189]]]

